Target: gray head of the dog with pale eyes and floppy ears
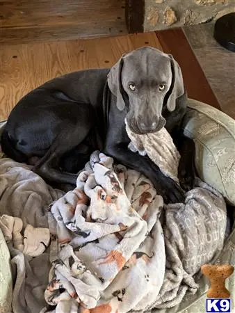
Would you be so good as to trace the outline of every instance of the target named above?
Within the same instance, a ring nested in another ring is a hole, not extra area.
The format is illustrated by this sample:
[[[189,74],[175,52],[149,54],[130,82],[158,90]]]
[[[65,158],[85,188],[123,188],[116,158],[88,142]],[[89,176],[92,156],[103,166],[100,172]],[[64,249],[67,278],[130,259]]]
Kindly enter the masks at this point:
[[[124,110],[128,102],[127,122],[136,134],[164,127],[163,106],[174,111],[177,97],[184,94],[178,63],[152,47],[123,55],[108,73],[108,87],[117,97],[117,109]]]

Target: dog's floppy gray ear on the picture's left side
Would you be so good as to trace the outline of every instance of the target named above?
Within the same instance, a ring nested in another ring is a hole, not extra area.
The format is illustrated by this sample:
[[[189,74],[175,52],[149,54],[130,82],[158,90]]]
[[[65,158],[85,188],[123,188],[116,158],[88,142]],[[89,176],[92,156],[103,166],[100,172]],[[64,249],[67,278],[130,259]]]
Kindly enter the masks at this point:
[[[123,54],[124,56],[124,54]],[[108,73],[108,87],[111,93],[117,97],[117,109],[122,111],[125,107],[125,102],[122,97],[122,67],[123,67],[123,56],[113,67],[111,67]]]

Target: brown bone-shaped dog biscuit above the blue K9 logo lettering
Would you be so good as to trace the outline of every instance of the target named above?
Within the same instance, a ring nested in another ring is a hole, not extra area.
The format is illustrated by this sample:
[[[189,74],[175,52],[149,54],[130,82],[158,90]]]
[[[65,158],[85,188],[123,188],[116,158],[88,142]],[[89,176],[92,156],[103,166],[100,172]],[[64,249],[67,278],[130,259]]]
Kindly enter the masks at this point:
[[[234,272],[234,266],[204,264],[201,271],[211,282],[211,288],[206,293],[208,298],[229,298],[230,292],[225,287],[225,280]]]

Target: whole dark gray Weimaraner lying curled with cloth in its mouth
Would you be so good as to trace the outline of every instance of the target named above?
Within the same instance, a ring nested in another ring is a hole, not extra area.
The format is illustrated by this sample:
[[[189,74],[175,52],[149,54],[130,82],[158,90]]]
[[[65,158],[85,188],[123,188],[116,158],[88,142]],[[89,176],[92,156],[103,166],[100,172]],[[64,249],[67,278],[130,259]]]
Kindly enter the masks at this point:
[[[90,153],[101,150],[142,172],[165,202],[181,202],[184,190],[178,184],[148,157],[128,150],[124,119],[136,134],[165,126],[184,152],[191,145],[180,133],[184,113],[179,65],[158,49],[142,47],[123,55],[111,69],[73,72],[32,90],[10,113],[2,149],[15,161],[33,164],[47,182],[71,188]],[[181,158],[181,186],[193,180],[191,161],[188,155]]]

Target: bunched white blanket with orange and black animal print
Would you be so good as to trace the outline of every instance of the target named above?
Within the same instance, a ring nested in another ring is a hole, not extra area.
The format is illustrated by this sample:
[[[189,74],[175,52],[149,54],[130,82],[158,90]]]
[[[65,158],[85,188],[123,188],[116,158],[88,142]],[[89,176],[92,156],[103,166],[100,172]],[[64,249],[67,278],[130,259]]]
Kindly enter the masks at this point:
[[[53,262],[51,282],[56,284],[51,289],[50,282],[47,302],[58,303],[54,291],[60,285],[65,291],[59,300],[64,294],[67,300],[75,298],[86,309],[101,305],[112,305],[111,312],[128,312],[134,305],[143,309],[141,299],[155,298],[163,282],[165,249],[159,223],[163,200],[150,182],[137,181],[131,205],[124,191],[124,168],[116,174],[113,159],[97,153],[92,154],[90,166],[92,173],[81,172],[74,191],[51,207],[60,225],[56,230],[60,252]],[[69,262],[65,262],[61,252]],[[133,280],[136,275],[138,281]]]

